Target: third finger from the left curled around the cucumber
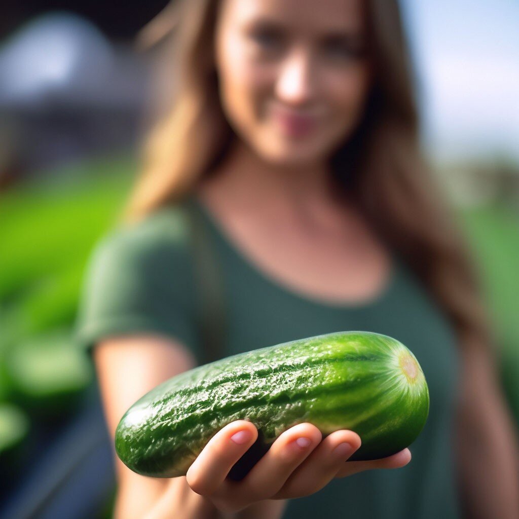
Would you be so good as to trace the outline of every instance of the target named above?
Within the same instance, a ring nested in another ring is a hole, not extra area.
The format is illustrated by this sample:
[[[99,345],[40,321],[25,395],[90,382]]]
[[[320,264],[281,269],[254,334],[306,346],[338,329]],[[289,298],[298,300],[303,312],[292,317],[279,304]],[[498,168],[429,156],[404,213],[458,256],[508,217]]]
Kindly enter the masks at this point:
[[[317,492],[335,477],[360,446],[360,436],[353,431],[340,430],[326,436],[292,473],[275,498],[289,499]]]

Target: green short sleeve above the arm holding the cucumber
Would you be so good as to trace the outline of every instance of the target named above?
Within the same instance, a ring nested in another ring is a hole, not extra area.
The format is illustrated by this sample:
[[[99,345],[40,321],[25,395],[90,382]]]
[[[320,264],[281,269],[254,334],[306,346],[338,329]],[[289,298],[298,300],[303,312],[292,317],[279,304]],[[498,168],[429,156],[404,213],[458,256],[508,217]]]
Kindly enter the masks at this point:
[[[112,231],[93,249],[75,326],[87,350],[114,335],[157,333],[199,358],[194,326],[192,265],[170,227]]]

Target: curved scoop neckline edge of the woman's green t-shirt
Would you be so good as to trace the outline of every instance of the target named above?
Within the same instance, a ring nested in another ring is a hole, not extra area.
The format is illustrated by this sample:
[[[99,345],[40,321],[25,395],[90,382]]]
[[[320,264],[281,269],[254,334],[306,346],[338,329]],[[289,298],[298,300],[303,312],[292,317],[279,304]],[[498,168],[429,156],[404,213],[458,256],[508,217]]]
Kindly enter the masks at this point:
[[[241,250],[239,245],[237,245],[233,238],[231,238],[227,231],[223,228],[222,224],[217,220],[217,218],[211,213],[211,211],[206,208],[204,203],[196,196],[192,195],[190,197],[190,201],[193,206],[199,213],[202,215],[204,220],[207,222],[208,226],[212,229],[213,234],[220,240],[220,242],[224,245],[224,247],[231,251],[235,257],[238,258],[238,261],[244,265],[247,269],[249,269],[252,274],[260,278],[264,283],[269,285],[271,288],[276,290],[277,292],[282,293],[285,296],[291,297],[293,299],[297,299],[300,302],[304,302],[306,304],[327,308],[330,310],[360,310],[366,308],[373,308],[385,301],[388,295],[392,292],[393,287],[397,280],[398,270],[399,270],[399,262],[397,256],[390,253],[389,255],[389,273],[386,277],[385,282],[383,283],[382,288],[378,291],[374,296],[364,299],[362,301],[327,301],[324,298],[319,298],[317,296],[313,296],[307,294],[303,291],[299,291],[293,286],[290,286],[284,283],[282,280],[271,277],[267,272],[265,272],[260,266],[258,266],[252,258],[249,257],[247,253]]]

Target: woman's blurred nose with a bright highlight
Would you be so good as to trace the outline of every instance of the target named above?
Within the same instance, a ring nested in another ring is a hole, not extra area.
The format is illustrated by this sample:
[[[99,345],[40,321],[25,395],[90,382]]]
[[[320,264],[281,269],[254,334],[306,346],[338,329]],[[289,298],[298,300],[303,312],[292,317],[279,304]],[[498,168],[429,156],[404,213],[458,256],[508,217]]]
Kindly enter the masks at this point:
[[[286,104],[304,104],[313,95],[312,71],[308,53],[297,50],[281,65],[276,81],[276,95]]]

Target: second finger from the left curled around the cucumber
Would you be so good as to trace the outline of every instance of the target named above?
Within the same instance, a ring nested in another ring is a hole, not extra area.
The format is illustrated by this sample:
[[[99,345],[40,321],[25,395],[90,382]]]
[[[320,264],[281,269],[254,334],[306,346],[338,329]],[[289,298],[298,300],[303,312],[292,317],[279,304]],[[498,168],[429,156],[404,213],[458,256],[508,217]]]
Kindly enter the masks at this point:
[[[240,491],[251,501],[270,499],[321,438],[319,429],[311,424],[299,424],[285,431],[245,477]]]

